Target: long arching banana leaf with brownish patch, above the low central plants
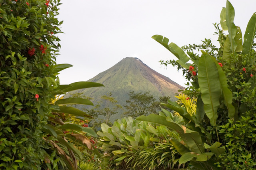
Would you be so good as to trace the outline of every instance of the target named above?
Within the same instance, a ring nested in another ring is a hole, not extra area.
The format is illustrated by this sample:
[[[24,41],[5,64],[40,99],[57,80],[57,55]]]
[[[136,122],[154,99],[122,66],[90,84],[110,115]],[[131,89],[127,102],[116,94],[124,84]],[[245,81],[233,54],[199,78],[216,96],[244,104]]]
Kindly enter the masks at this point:
[[[204,152],[204,148],[202,146],[202,138],[198,132],[195,132],[193,130],[190,130],[186,128],[183,125],[179,125],[178,123],[172,122],[170,117],[162,117],[159,115],[151,114],[148,115],[147,117],[142,115],[138,117],[136,120],[139,121],[147,121],[147,122],[152,122],[152,123],[157,123],[159,125],[164,125],[171,130],[175,130],[180,134],[180,137],[184,142],[190,147],[190,149],[193,152],[196,153],[202,153]]]

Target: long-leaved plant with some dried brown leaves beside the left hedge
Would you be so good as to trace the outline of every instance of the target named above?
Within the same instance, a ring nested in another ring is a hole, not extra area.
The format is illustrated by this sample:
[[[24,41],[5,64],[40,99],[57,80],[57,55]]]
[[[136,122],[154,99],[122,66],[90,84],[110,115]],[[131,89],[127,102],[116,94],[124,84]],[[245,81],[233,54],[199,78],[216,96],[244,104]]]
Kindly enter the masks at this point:
[[[71,66],[69,64],[54,65],[53,70],[57,75],[59,71]],[[93,105],[93,103],[82,98],[64,99],[63,95],[77,89],[100,86],[103,85],[86,81],[58,86],[54,93],[56,98],[52,99],[50,103],[52,104],[52,112],[48,115],[48,124],[43,129],[45,132],[44,140],[51,148],[55,149],[54,151],[49,150],[49,152],[53,152],[45,156],[48,168],[55,161],[55,158],[56,160],[59,159],[59,166],[69,170],[77,170],[77,161],[83,156],[90,157],[89,152],[99,155],[94,148],[94,138],[97,137],[97,134],[87,124],[91,116],[79,109],[67,106],[74,104]],[[53,168],[58,169],[60,167],[54,166]]]

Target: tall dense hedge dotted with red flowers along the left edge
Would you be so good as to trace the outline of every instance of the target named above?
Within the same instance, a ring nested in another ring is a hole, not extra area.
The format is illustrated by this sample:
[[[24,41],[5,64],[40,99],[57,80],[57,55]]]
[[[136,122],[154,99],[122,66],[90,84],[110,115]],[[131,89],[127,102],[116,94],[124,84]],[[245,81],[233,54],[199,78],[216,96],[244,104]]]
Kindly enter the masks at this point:
[[[58,0],[59,2],[59,0]],[[41,128],[58,87],[52,73],[61,22],[57,0],[0,0],[0,167],[37,169]]]

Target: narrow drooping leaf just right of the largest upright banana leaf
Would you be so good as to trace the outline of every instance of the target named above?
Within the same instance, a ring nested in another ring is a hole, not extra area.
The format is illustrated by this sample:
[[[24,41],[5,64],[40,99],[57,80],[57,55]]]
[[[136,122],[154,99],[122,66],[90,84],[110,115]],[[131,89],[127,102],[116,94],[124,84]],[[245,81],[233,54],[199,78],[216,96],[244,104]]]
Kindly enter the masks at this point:
[[[217,61],[215,62],[215,64],[218,69],[220,87],[222,89],[222,97],[224,98],[224,104],[228,108],[228,117],[229,119],[232,119],[235,115],[235,107],[232,105],[232,99],[233,99],[232,91],[228,89],[227,78],[224,71],[222,70],[220,65],[217,63]]]

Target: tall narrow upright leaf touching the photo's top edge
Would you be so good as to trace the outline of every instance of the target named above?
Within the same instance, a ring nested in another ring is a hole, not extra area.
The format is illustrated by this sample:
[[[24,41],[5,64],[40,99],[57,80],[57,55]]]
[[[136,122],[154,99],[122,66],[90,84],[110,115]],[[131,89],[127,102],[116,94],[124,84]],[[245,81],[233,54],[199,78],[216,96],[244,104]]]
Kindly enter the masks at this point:
[[[226,3],[226,24],[228,27],[228,38],[230,40],[230,50],[232,53],[235,52],[237,43],[235,41],[236,26],[234,24],[235,10],[232,4],[227,0]]]

